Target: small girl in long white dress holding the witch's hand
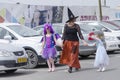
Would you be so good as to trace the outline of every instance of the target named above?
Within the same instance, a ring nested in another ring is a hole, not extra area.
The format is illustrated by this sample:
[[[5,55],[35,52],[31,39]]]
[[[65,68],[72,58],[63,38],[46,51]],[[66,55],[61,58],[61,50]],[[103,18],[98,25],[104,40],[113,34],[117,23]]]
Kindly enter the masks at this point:
[[[101,41],[102,35],[100,33],[94,33],[91,38],[96,40],[94,44],[88,44],[88,46],[96,46],[96,56],[94,61],[94,66],[98,67],[97,71],[105,71],[105,67],[109,64],[109,57],[107,55],[106,49]]]

